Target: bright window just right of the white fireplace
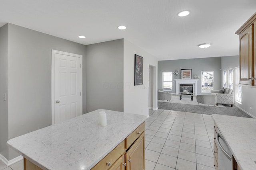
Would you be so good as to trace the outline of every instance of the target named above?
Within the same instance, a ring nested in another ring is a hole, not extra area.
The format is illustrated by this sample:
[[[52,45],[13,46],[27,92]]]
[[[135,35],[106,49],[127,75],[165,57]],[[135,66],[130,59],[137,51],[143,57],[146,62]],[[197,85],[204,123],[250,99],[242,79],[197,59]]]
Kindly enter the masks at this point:
[[[201,92],[210,93],[213,90],[213,71],[202,71]]]

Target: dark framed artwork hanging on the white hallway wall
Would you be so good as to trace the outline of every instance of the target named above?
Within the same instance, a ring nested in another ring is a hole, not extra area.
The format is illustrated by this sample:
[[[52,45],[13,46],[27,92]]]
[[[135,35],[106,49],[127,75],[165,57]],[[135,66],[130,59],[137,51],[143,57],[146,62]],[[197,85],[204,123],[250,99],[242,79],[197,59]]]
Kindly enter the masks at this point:
[[[143,84],[143,57],[135,54],[134,86]]]

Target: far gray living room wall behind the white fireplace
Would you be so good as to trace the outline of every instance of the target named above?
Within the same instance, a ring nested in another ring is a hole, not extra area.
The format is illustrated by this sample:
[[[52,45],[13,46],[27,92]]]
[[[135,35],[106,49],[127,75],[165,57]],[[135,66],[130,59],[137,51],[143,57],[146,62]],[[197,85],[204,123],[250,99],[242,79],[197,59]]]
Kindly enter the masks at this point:
[[[182,59],[182,60],[167,60],[158,61],[158,89],[162,88],[162,72],[174,72],[176,69],[192,69],[192,78],[197,74],[201,78],[201,71],[214,71],[214,90],[221,88],[221,57],[200,58],[200,59]],[[175,93],[175,80],[180,79],[180,75],[173,78],[173,91]],[[201,79],[198,80],[198,94],[201,93]]]

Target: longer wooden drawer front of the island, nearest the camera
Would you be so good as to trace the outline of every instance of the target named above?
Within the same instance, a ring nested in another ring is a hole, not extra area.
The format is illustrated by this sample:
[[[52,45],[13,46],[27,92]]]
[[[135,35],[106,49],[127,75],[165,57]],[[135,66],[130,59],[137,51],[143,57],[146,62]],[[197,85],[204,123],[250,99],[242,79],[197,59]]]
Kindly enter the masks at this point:
[[[107,156],[105,156],[98,164],[96,164],[91,170],[108,170],[112,164],[125,153],[125,140],[122,141],[115,149],[113,149]],[[107,163],[110,162],[108,166]]]

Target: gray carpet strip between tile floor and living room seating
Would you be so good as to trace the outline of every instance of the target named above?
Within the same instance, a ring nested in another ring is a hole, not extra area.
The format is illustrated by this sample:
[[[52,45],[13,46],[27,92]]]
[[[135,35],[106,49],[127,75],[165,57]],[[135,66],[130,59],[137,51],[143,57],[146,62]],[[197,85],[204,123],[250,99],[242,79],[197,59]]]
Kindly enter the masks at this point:
[[[176,104],[176,103],[166,103],[166,102],[158,102],[158,109],[166,109],[166,110],[175,110],[175,111],[185,111],[192,113],[202,113],[202,114],[219,114],[219,115],[230,115],[230,116],[238,116],[238,117],[250,117],[248,114],[244,113],[237,107],[233,105],[225,105],[223,107],[208,107],[204,109],[204,106],[196,106],[196,105],[188,105],[188,104]],[[250,117],[251,118],[251,117]]]

